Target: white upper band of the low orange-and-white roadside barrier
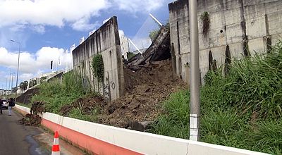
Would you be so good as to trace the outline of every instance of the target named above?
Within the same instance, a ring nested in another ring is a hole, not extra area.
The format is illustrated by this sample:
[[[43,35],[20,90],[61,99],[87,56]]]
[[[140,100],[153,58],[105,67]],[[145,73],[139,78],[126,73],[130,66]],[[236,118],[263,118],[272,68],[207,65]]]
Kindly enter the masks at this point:
[[[17,106],[18,109],[25,107]],[[231,154],[231,155],[263,155],[263,153],[224,147],[204,142],[194,142],[147,132],[138,132],[116,128],[109,125],[91,123],[85,120],[59,116],[54,113],[43,113],[42,117],[65,128],[75,130],[98,140],[114,144],[142,154]]]

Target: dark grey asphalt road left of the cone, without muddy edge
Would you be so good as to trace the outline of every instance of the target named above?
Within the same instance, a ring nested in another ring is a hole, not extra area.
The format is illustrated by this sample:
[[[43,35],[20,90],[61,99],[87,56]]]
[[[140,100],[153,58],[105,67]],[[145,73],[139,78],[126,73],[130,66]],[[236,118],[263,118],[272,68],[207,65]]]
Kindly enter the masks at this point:
[[[42,131],[36,127],[20,125],[18,120],[21,118],[23,117],[14,111],[12,111],[12,116],[8,116],[8,110],[3,110],[3,114],[0,114],[0,154],[48,154],[40,149],[39,144],[33,138]]]

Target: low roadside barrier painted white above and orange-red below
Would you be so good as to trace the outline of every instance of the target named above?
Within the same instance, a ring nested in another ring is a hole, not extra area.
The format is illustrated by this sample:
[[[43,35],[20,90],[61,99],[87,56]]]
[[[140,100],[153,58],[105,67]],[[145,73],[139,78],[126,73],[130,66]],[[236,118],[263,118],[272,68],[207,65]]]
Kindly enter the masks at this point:
[[[30,111],[23,106],[16,105],[15,108],[21,113]],[[42,125],[59,131],[60,137],[94,154],[262,155],[255,151],[116,128],[54,113],[43,113]]]

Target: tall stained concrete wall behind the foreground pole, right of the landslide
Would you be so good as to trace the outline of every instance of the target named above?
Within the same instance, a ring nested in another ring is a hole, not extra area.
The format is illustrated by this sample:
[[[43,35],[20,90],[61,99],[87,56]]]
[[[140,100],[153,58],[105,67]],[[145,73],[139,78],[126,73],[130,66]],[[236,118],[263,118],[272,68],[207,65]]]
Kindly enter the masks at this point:
[[[232,60],[264,52],[282,35],[281,0],[200,0],[197,6],[202,80],[209,69],[226,63],[228,55]],[[175,1],[168,4],[168,8],[176,74],[189,82],[188,1]],[[208,13],[209,18],[207,32],[203,32],[201,16],[204,12]]]

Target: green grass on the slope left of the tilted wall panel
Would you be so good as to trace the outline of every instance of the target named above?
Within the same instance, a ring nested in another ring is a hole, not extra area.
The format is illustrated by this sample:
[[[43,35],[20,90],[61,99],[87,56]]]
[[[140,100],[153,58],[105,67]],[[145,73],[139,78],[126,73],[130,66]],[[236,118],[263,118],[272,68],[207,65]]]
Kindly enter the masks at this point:
[[[63,75],[62,82],[57,79],[39,85],[39,94],[32,97],[31,103],[34,101],[44,101],[46,111],[62,114],[60,113],[62,106],[72,104],[79,98],[97,95],[90,92],[87,86],[89,86],[87,83],[83,85],[82,78],[76,73],[66,73]],[[92,114],[88,115],[80,108],[73,108],[67,113],[67,116],[94,122],[97,120],[97,113],[97,109],[92,109]]]

